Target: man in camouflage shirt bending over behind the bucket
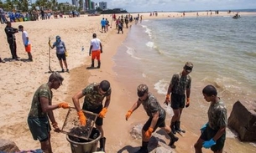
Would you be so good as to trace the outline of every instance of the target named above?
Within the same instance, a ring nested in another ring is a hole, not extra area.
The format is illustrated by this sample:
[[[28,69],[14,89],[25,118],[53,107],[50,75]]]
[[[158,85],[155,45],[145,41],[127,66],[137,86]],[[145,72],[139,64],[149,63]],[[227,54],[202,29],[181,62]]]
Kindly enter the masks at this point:
[[[72,97],[81,125],[86,125],[86,116],[84,115],[82,110],[87,110],[98,114],[95,124],[96,128],[102,133],[102,137],[100,138],[100,150],[104,152],[106,138],[104,137],[102,125],[103,118],[105,117],[107,113],[107,108],[110,104],[111,91],[112,90],[110,87],[110,83],[107,80],[102,80],[101,83],[89,84],[88,86],[86,86],[85,89],[80,90]],[[79,99],[81,99],[82,97],[85,98],[81,110]],[[103,106],[102,101],[105,97],[105,104]]]

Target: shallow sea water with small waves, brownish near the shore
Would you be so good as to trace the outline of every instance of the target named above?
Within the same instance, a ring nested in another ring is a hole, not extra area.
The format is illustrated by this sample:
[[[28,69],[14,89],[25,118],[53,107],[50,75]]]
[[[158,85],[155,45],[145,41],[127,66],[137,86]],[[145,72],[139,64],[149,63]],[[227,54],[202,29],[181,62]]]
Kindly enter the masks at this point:
[[[207,84],[217,87],[228,115],[238,99],[256,102],[255,21],[256,16],[143,20],[130,28],[113,57],[116,64],[113,69],[134,100],[138,84],[144,83],[164,102],[172,75],[182,71],[186,61],[191,61],[194,64],[191,106],[181,120],[197,132],[207,120],[209,105],[201,94]],[[171,117],[171,110],[169,114]],[[227,137],[236,136],[228,132]],[[255,145],[247,147],[248,152],[256,151]]]

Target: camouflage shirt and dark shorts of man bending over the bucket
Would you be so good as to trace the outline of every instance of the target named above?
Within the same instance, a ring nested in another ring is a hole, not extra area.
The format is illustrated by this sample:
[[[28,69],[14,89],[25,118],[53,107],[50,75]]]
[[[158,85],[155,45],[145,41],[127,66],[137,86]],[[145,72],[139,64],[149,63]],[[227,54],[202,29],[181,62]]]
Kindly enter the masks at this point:
[[[102,111],[102,100],[111,94],[111,88],[109,88],[106,94],[99,94],[98,89],[99,83],[89,84],[85,89],[82,90],[82,94],[85,95],[84,104],[82,110],[91,111],[93,113],[99,114]],[[102,125],[102,118],[98,117],[96,120],[96,125]]]

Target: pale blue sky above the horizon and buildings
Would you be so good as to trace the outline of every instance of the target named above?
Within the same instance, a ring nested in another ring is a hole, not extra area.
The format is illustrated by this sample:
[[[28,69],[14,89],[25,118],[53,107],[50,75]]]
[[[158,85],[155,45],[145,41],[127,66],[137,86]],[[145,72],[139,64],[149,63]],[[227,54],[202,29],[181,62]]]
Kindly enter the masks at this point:
[[[107,8],[123,8],[131,12],[196,11],[256,8],[256,0],[91,0],[107,2]],[[58,0],[59,3],[71,0]]]

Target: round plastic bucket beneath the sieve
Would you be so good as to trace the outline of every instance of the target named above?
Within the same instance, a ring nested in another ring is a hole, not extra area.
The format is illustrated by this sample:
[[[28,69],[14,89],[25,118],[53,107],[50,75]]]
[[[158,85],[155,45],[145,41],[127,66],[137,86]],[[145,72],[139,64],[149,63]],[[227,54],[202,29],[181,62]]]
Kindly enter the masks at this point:
[[[90,135],[92,140],[84,140],[71,135],[66,135],[66,140],[71,144],[72,153],[91,153],[97,151],[97,144],[101,137],[101,132],[93,128]]]

